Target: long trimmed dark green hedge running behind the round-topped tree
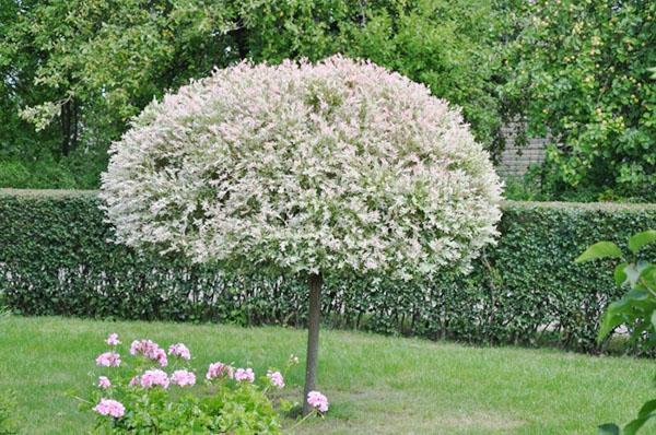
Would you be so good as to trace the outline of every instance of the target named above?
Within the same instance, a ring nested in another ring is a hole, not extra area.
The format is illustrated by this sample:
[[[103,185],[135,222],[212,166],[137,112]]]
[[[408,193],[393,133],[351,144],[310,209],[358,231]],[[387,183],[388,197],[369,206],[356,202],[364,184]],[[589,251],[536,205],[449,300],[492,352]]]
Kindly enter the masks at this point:
[[[109,243],[94,191],[0,190],[0,295],[24,315],[302,326],[293,277],[236,277]],[[467,277],[328,280],[333,327],[491,344],[604,351],[600,314],[622,291],[610,264],[574,264],[588,245],[656,227],[656,204],[506,202],[502,236]],[[653,255],[654,251],[649,252]],[[367,289],[365,292],[364,289]]]

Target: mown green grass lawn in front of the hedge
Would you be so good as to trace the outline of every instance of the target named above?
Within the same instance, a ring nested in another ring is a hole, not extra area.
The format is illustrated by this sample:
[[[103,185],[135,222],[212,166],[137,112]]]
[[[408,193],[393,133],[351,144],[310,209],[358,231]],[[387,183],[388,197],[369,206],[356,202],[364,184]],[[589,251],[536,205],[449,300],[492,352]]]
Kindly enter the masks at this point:
[[[92,423],[70,391],[92,379],[108,332],[124,341],[183,341],[195,366],[249,363],[261,373],[304,354],[305,332],[161,322],[10,317],[0,324],[0,390],[12,389],[26,434],[79,434]],[[649,397],[653,361],[590,357],[553,350],[453,343],[323,331],[320,390],[325,420],[296,433],[593,434],[600,422],[630,420]],[[288,376],[298,386],[302,365]],[[291,421],[285,422],[291,425]],[[656,426],[644,433],[655,433]]]

